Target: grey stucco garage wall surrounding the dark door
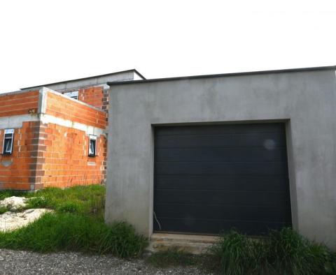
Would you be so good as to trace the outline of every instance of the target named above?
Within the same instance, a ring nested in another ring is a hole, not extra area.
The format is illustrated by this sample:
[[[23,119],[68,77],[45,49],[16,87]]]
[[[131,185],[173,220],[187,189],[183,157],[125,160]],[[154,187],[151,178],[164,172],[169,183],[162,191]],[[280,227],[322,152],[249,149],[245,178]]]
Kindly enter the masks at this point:
[[[334,70],[111,86],[106,222],[153,231],[153,126],[286,121],[293,226],[336,247]]]

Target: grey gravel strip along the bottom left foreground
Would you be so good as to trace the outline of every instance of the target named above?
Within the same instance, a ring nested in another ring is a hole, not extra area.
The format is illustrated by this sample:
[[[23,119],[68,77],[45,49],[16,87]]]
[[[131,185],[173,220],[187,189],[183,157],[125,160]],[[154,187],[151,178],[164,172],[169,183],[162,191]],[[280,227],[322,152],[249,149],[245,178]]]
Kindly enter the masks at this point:
[[[81,253],[40,254],[0,249],[0,274],[207,274],[196,267],[160,269],[144,260]]]

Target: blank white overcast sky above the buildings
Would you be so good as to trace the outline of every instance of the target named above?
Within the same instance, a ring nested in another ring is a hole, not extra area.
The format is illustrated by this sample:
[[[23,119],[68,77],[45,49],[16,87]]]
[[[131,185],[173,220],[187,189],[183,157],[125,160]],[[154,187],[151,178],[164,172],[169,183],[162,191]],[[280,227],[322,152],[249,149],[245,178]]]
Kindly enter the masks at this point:
[[[0,93],[131,68],[157,78],[336,65],[334,2],[1,1]]]

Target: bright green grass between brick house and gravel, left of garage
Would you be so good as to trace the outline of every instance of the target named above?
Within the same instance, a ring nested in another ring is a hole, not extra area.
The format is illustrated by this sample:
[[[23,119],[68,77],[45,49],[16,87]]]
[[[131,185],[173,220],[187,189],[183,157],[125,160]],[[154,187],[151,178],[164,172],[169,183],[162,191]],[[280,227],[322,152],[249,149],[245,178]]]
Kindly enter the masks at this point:
[[[0,196],[13,195],[1,192]],[[45,188],[36,193],[15,193],[31,198],[29,208],[53,209],[34,223],[12,232],[0,232],[0,248],[36,252],[80,251],[111,253],[131,258],[147,244],[127,223],[104,223],[105,188],[101,185]],[[1,209],[0,209],[1,211]]]

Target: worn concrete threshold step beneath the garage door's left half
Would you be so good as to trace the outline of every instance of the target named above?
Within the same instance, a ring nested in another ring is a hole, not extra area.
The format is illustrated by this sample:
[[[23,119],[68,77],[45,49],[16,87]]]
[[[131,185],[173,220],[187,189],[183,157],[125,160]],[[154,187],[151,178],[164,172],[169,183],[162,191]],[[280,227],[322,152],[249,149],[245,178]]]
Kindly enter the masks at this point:
[[[158,252],[176,249],[192,254],[206,253],[218,237],[207,235],[187,235],[171,233],[153,233],[147,251]]]

